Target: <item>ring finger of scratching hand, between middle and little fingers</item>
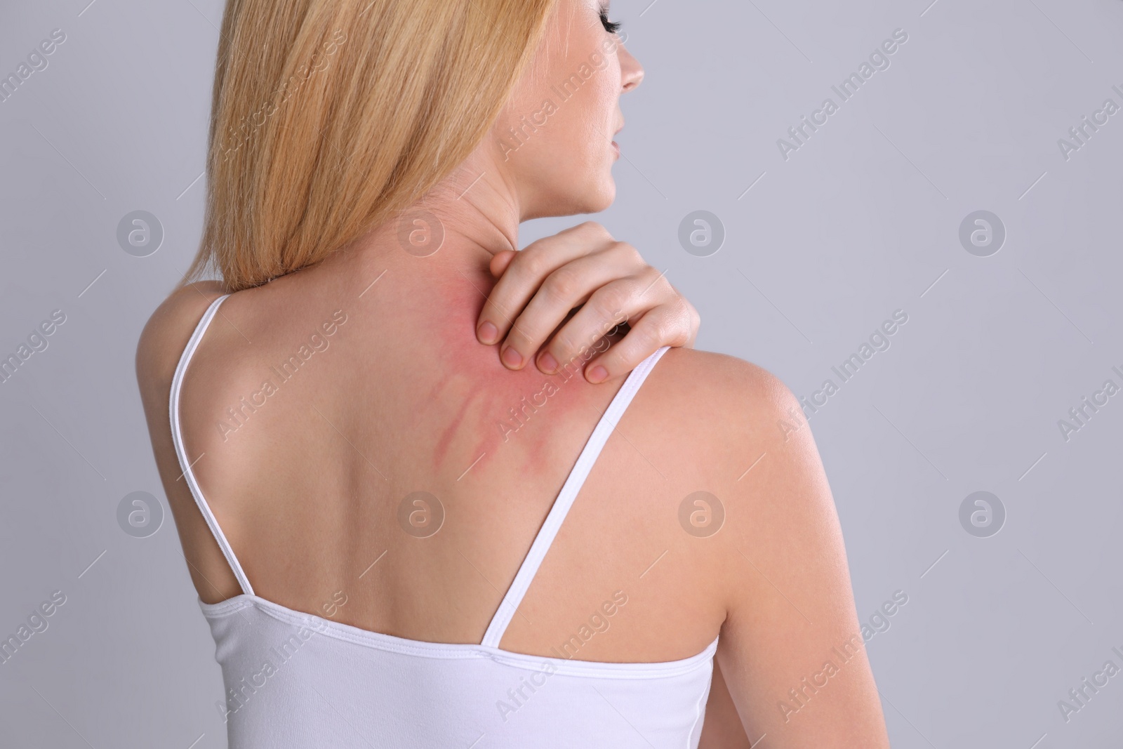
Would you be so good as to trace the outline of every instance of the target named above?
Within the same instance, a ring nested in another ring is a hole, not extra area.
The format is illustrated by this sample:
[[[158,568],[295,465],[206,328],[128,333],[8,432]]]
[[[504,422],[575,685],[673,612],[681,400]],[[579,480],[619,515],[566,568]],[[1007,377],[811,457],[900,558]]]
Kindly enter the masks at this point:
[[[663,274],[650,266],[645,266],[638,274],[614,278],[595,290],[573,319],[550,338],[538,357],[538,367],[546,374],[553,374],[557,363],[573,360],[583,346],[592,345],[613,326],[638,320],[658,307],[676,304],[687,302]],[[690,320],[690,316],[685,319]],[[691,334],[687,331],[687,336]]]

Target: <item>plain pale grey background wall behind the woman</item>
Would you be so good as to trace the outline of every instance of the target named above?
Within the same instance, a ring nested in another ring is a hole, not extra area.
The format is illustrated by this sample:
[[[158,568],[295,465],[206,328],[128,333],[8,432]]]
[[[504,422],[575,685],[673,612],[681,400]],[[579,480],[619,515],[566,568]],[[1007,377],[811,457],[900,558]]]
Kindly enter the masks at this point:
[[[0,634],[66,595],[0,665],[0,743],[222,747],[172,520],[134,538],[116,514],[130,492],[163,502],[133,360],[199,239],[222,3],[88,2],[0,6],[0,74],[67,37],[0,102],[0,353],[66,314],[0,384]],[[599,220],[699,308],[699,347],[810,395],[909,316],[811,418],[859,615],[909,595],[867,646],[893,746],[1121,746],[1123,675],[1068,722],[1057,702],[1123,666],[1123,395],[1069,440],[1058,428],[1123,384],[1123,113],[1068,161],[1057,141],[1123,104],[1123,3],[648,2],[613,3],[647,80],[623,99],[619,197]],[[777,138],[896,28],[891,67],[782,158]],[[134,210],[163,223],[149,257],[117,244]],[[710,257],[678,245],[694,210],[724,226]],[[959,243],[976,210],[1007,230],[989,257]],[[976,491],[1006,509],[996,536],[960,526]]]

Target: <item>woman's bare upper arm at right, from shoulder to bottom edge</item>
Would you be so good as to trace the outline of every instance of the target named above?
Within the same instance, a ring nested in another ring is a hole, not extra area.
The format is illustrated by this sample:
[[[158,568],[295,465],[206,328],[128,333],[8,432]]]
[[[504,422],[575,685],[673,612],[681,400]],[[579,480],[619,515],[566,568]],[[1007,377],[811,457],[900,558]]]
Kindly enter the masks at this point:
[[[748,367],[729,439],[752,467],[724,486],[741,535],[727,550],[718,664],[754,742],[888,747],[814,438],[792,392]]]

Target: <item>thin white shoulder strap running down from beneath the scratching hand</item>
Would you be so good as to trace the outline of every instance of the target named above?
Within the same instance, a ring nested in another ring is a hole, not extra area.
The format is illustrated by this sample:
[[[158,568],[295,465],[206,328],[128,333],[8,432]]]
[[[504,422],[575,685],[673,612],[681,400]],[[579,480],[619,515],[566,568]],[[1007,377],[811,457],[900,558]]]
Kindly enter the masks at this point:
[[[497,648],[499,643],[503,640],[503,633],[506,632],[508,624],[511,623],[515,610],[522,603],[522,597],[527,594],[530,583],[535,579],[538,567],[542,564],[546,552],[549,551],[550,545],[558,533],[558,529],[562,528],[562,523],[569,512],[569,508],[573,506],[574,500],[577,499],[577,493],[584,486],[585,478],[588,477],[588,472],[592,471],[593,464],[596,463],[596,458],[601,455],[601,449],[609,440],[609,436],[617,428],[620,417],[623,415],[624,410],[639,391],[639,386],[643,384],[655,363],[659,360],[668,348],[670,347],[664,346],[632,369],[631,374],[628,375],[628,380],[624,381],[623,386],[617,392],[612,402],[609,403],[604,415],[596,422],[596,428],[593,429],[593,433],[585,444],[585,448],[577,456],[577,463],[574,464],[573,471],[569,472],[569,477],[566,478],[565,484],[562,486],[562,491],[554,501],[554,506],[550,508],[549,514],[546,515],[546,521],[538,531],[538,536],[535,537],[535,541],[527,552],[527,558],[523,559],[522,566],[519,567],[519,572],[514,576],[514,582],[511,583],[511,587],[508,590],[506,595],[503,596],[495,616],[492,619],[491,624],[487,625],[487,631],[484,632],[484,639],[481,645]]]

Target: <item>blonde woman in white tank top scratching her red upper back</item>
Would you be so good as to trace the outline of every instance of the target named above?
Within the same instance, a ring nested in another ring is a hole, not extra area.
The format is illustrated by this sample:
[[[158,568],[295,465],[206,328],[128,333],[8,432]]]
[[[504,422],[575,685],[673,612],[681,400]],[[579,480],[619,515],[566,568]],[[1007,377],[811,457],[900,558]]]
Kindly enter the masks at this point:
[[[137,366],[231,747],[888,746],[792,393],[668,350],[693,309],[597,225],[514,252],[614,198],[615,30],[228,4],[189,274],[222,282]]]

